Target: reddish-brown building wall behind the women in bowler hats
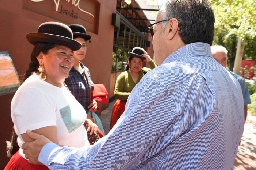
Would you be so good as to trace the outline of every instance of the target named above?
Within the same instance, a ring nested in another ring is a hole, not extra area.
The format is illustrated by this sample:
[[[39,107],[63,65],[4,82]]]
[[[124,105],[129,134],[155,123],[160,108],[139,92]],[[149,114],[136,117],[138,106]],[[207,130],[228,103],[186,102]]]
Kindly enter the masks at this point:
[[[79,23],[88,28],[90,32],[87,31],[87,33],[92,36],[91,43],[87,43],[87,54],[83,63],[89,68],[93,82],[104,84],[109,91],[114,37],[111,17],[112,13],[116,12],[116,0],[81,0],[80,7],[94,13],[95,19],[79,11],[72,5],[72,0],[69,3],[64,0],[60,1],[60,5],[63,4],[63,7],[70,11],[73,9],[79,17],[87,21],[57,13],[54,11],[53,0],[45,0],[40,5],[33,4],[35,7],[30,7],[30,3],[32,5],[33,2],[30,0],[0,1],[0,50],[9,51],[18,74],[22,75],[27,70],[33,48],[33,45],[26,40],[27,33],[37,32],[38,26],[46,21],[61,21],[65,24]],[[46,7],[45,11],[42,10]],[[13,94],[0,96],[0,169],[8,162],[5,154],[5,140],[10,139],[13,126],[10,113],[12,97]]]

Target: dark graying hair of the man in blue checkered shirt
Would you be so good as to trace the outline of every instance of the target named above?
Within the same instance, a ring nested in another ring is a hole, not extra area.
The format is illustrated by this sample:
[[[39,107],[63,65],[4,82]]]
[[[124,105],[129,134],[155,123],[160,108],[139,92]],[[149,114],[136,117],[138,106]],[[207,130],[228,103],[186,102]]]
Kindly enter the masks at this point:
[[[161,20],[171,18],[178,20],[179,35],[185,44],[195,42],[212,44],[214,12],[208,0],[167,0],[159,12]],[[167,21],[162,23],[162,30],[167,23]]]

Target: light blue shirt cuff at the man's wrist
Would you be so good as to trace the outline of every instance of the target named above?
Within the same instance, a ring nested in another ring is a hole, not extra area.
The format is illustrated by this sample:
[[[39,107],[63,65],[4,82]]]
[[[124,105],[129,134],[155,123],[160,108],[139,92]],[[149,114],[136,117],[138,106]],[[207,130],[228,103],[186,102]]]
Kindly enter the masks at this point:
[[[45,144],[39,153],[38,161],[41,162],[42,164],[44,164],[45,166],[47,166],[47,162],[48,162],[50,153],[56,147],[60,147],[60,146],[55,143],[52,143],[52,142]]]

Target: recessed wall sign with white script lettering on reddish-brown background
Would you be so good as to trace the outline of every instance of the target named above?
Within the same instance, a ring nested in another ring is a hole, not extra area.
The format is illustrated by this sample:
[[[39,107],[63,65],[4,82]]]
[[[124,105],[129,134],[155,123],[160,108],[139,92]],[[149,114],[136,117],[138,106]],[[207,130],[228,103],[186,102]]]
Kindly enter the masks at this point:
[[[95,0],[23,0],[23,10],[98,34],[100,4]]]

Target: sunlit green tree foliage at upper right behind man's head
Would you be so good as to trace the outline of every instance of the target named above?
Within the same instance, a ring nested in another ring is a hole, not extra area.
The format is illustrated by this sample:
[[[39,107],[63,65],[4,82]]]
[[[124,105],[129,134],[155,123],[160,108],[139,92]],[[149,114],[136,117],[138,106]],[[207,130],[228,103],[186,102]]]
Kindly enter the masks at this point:
[[[228,51],[229,67],[233,68],[237,40],[245,40],[244,58],[256,59],[255,0],[211,0],[215,14],[214,45]]]

